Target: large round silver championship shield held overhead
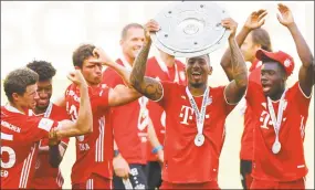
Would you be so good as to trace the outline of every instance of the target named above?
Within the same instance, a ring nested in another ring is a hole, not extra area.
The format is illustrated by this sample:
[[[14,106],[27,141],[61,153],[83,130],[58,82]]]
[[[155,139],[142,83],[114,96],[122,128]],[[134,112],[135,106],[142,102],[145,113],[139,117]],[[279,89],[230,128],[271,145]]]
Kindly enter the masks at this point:
[[[177,57],[209,54],[228,41],[230,32],[221,25],[228,17],[211,1],[176,2],[155,18],[160,30],[151,33],[151,40],[159,50]]]

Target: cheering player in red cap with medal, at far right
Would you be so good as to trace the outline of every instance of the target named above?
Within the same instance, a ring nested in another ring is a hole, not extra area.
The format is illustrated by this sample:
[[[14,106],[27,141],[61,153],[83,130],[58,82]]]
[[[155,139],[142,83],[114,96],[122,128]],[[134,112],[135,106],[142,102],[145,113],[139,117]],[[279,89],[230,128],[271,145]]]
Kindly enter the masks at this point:
[[[288,7],[279,3],[277,20],[286,27],[302,62],[298,81],[286,86],[294,70],[288,54],[259,50],[261,84],[249,83],[246,99],[259,125],[254,129],[251,189],[305,189],[307,167],[303,141],[314,86],[314,56]]]

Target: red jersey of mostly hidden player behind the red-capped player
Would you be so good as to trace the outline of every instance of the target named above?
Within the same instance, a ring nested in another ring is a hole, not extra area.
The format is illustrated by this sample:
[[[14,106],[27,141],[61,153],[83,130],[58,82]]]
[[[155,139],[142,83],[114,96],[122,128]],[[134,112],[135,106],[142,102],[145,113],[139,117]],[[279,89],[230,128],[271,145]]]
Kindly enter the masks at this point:
[[[250,67],[249,81],[261,84],[261,65],[262,62],[255,60]],[[246,103],[249,104],[249,103]],[[246,106],[244,113],[244,130],[241,140],[240,158],[242,160],[253,160],[254,149],[254,126],[256,120],[253,118],[253,112],[250,106]]]

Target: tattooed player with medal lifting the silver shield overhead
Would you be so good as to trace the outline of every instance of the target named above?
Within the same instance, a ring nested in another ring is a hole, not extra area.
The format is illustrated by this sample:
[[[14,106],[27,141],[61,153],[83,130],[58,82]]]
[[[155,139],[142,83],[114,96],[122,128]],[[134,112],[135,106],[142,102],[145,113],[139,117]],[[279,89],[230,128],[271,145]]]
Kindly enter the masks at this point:
[[[225,117],[242,98],[248,72],[235,43],[237,23],[223,19],[231,31],[233,81],[227,86],[208,87],[209,55],[187,59],[187,85],[144,77],[151,40],[148,32],[159,30],[155,21],[146,24],[146,42],[130,74],[130,83],[143,95],[158,102],[166,112],[165,158],[161,189],[218,189],[219,157],[224,141]]]

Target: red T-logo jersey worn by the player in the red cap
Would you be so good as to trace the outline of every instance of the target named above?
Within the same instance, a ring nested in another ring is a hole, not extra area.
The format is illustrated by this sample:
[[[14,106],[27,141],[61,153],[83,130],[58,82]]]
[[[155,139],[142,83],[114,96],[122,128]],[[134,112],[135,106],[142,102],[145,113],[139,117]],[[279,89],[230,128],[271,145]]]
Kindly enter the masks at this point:
[[[286,91],[279,137],[281,150],[276,155],[272,152],[275,131],[260,84],[249,83],[246,99],[259,123],[254,128],[253,178],[293,181],[305,177],[308,169],[305,165],[303,141],[311,97],[303,94],[298,82]],[[272,105],[277,116],[279,101]]]

